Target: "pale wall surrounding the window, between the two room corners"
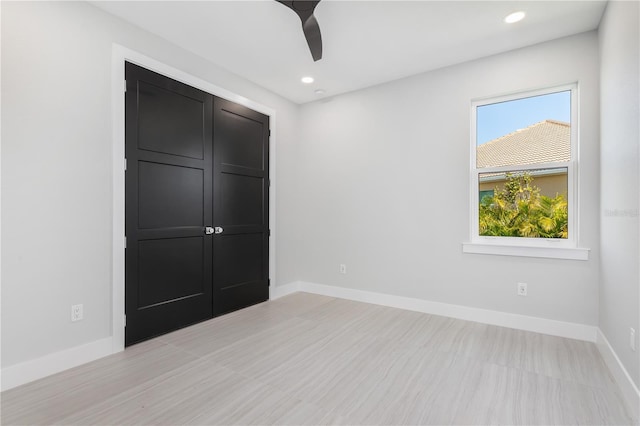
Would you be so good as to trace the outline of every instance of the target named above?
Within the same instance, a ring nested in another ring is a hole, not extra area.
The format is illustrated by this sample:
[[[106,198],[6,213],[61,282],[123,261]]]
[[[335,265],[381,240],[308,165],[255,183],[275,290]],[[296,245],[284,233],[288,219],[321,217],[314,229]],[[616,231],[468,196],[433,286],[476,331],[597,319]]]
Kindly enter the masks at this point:
[[[590,32],[304,105],[291,199],[305,206],[293,218],[301,279],[596,325],[598,76]],[[471,100],[575,81],[580,245],[590,259],[463,254]],[[516,282],[529,284],[528,297]]]

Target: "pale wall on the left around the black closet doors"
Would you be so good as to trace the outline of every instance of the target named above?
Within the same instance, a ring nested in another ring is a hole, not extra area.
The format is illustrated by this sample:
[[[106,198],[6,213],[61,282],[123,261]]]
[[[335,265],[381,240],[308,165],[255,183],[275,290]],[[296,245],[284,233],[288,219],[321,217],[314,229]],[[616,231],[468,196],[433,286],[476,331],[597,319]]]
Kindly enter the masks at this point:
[[[276,110],[278,200],[294,192],[298,107],[87,3],[1,7],[5,368],[111,335],[113,43]],[[76,303],[85,319],[71,323]]]

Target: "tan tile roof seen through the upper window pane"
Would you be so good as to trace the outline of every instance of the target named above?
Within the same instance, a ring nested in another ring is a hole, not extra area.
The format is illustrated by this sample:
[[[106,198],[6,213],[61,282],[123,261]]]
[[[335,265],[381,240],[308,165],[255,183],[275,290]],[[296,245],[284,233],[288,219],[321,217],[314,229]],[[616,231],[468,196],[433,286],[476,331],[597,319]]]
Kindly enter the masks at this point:
[[[571,159],[569,123],[544,120],[480,145],[478,168],[551,163]]]

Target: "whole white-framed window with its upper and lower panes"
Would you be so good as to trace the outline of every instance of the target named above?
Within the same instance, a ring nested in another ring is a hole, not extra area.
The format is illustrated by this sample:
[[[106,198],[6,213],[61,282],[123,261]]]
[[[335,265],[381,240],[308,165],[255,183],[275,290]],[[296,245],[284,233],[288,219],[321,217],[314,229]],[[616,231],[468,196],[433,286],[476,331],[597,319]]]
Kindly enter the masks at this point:
[[[470,245],[576,247],[576,97],[568,85],[472,102]]]

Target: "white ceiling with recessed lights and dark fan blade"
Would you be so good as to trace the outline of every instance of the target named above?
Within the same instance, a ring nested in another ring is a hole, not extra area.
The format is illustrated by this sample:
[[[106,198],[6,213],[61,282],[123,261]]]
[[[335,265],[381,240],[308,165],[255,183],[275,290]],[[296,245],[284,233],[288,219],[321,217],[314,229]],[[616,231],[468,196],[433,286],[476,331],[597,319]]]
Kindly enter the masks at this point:
[[[300,19],[273,0],[92,3],[296,103],[589,31],[606,5],[323,0],[323,58],[313,62]],[[517,10],[526,18],[505,24]],[[305,75],[315,82],[302,84]]]

